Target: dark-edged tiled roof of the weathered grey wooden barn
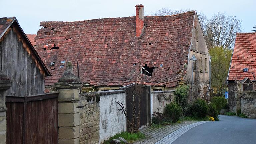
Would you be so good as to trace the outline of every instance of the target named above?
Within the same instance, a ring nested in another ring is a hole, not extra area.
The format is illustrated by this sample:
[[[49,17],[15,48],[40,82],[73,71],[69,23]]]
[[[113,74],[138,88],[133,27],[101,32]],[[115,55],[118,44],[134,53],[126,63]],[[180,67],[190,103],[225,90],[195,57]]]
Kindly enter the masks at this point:
[[[25,41],[27,41],[27,44],[29,45],[29,48],[32,50],[33,54],[35,55],[37,61],[39,62],[39,64],[42,66],[42,68],[44,69],[46,76],[51,76],[51,73],[48,71],[48,69],[46,68],[46,66],[44,65],[43,61],[41,60],[41,58],[39,57],[37,51],[35,50],[34,46],[30,43],[30,41],[28,40],[28,37],[26,36],[26,34],[24,33],[24,31],[22,30],[22,28],[20,27],[18,20],[15,17],[3,17],[0,18],[0,39],[2,37],[4,37],[5,33],[8,31],[8,29],[12,26],[12,25],[16,25],[21,33],[21,35],[24,37]]]

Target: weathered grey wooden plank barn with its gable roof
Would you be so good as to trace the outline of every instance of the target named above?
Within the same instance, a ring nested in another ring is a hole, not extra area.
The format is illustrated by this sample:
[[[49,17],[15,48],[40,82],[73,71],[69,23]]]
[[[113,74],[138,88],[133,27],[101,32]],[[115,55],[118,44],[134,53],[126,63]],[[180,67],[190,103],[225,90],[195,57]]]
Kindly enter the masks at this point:
[[[51,76],[15,17],[0,18],[0,68],[12,81],[7,96],[43,94]]]

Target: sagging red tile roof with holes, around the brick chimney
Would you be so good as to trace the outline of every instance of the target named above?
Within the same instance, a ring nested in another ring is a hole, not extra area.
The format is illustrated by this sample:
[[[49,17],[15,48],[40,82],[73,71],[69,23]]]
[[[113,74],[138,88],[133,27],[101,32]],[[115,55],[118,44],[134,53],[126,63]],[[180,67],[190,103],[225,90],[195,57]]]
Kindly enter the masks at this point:
[[[175,86],[186,72],[194,15],[145,16],[140,37],[135,37],[135,16],[41,22],[35,48],[53,75],[45,85],[58,81],[67,61],[78,75],[78,61],[81,81],[91,85],[124,86],[141,75],[146,85]],[[140,74],[146,64],[154,68],[152,76]]]

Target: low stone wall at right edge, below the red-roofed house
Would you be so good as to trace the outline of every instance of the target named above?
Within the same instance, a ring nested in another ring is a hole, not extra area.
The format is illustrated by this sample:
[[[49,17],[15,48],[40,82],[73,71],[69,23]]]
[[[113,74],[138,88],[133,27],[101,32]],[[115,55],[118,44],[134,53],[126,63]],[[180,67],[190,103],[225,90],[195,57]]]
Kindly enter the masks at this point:
[[[241,99],[241,113],[256,118],[256,99]]]

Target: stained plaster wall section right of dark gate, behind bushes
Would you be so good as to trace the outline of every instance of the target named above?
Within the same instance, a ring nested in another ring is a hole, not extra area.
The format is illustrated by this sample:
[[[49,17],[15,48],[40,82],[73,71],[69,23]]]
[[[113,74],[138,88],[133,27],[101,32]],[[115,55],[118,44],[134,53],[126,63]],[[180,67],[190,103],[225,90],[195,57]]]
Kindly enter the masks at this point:
[[[174,91],[175,90],[151,92],[151,115],[154,112],[164,112],[165,105],[174,100]]]

